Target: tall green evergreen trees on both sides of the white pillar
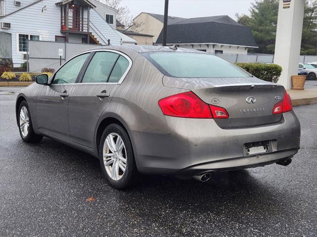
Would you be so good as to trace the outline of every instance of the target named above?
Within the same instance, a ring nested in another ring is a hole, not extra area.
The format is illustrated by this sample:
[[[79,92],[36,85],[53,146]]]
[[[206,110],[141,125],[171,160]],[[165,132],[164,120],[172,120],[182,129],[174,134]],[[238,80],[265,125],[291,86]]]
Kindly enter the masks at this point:
[[[278,0],[256,0],[250,17],[236,14],[237,21],[249,26],[259,48],[258,53],[274,53],[278,15]],[[305,0],[301,54],[317,55],[317,0]]]

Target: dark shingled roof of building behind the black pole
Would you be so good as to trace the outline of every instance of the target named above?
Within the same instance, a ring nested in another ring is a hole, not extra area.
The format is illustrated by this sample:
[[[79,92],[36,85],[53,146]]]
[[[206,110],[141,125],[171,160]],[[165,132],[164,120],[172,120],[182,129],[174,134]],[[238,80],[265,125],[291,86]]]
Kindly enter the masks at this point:
[[[163,30],[156,44],[161,44]],[[167,26],[168,44],[212,43],[257,47],[251,28],[242,26],[229,16],[199,17]]]

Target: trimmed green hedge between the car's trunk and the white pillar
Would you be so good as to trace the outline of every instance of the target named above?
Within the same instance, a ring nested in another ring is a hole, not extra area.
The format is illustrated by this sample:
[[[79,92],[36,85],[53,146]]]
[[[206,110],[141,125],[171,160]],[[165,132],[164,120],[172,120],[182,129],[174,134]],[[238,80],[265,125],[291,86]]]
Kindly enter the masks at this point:
[[[237,65],[259,79],[275,83],[282,73],[282,67],[276,64],[237,63]]]

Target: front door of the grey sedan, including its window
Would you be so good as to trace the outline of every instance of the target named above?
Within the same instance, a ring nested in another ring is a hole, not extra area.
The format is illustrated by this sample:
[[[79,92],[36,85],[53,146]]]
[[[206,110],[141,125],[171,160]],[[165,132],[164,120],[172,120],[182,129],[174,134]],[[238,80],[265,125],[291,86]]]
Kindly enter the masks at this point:
[[[44,85],[36,101],[38,129],[71,140],[68,124],[68,102],[71,88],[79,79],[89,53],[76,56],[64,64]]]

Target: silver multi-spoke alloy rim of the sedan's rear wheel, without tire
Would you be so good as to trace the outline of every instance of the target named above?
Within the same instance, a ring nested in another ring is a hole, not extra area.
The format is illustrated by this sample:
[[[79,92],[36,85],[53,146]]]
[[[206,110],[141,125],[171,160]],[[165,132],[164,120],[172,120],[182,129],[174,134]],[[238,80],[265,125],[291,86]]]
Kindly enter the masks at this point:
[[[118,181],[122,178],[127,165],[125,145],[117,133],[109,133],[103,148],[103,159],[108,176]]]

